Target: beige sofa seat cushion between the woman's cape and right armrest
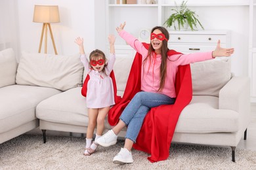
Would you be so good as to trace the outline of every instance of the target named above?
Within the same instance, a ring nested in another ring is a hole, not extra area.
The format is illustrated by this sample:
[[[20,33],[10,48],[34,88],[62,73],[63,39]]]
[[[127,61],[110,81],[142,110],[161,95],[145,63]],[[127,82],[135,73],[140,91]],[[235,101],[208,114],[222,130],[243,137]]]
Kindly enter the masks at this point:
[[[175,132],[236,132],[241,128],[238,112],[219,109],[219,97],[198,95],[182,110]]]

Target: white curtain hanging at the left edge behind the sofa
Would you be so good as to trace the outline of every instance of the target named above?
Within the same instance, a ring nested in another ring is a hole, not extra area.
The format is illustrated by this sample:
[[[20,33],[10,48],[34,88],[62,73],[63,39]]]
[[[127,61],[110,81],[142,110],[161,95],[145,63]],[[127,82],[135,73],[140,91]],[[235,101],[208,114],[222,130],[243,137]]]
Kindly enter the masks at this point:
[[[12,48],[18,58],[18,20],[16,0],[0,1],[0,51]]]

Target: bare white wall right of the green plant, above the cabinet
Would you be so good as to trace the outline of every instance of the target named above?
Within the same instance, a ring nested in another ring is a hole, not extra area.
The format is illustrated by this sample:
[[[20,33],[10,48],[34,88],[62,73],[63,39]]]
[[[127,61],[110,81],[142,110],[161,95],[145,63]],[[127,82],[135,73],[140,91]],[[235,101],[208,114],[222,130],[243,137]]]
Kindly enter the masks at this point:
[[[235,52],[231,58],[231,71],[235,75],[247,75],[249,43],[249,6],[191,7],[200,16],[205,29],[228,29],[231,47]]]

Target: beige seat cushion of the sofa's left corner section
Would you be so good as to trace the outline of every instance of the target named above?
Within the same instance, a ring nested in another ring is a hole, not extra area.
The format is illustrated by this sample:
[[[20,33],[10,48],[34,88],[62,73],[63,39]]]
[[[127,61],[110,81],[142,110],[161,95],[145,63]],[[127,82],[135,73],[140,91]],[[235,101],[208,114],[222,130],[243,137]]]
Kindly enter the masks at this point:
[[[37,104],[60,92],[54,88],[17,84],[0,88],[0,133],[35,120]]]

